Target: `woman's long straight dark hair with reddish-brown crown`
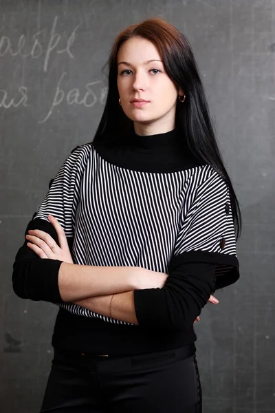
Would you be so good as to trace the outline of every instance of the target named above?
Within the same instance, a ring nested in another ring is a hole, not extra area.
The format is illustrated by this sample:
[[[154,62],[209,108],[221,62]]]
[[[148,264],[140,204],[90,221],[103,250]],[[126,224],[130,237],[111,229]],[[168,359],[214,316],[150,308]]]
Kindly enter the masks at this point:
[[[135,36],[147,39],[157,47],[168,76],[184,91],[186,95],[184,103],[177,102],[175,126],[187,140],[190,151],[197,158],[211,165],[228,185],[236,239],[238,239],[241,235],[241,210],[214,136],[197,62],[190,43],[173,25],[163,19],[147,19],[142,23],[130,25],[117,36],[107,62],[109,89],[94,142],[104,139],[117,141],[118,137],[124,140],[133,127],[133,121],[124,114],[118,103],[117,56],[122,43]]]

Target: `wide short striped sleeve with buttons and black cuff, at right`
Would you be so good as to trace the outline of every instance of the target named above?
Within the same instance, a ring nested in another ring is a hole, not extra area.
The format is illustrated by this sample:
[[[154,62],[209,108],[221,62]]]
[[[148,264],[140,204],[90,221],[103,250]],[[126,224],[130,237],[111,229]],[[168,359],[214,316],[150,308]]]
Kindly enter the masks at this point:
[[[215,265],[215,289],[239,279],[230,192],[214,169],[195,190],[195,200],[177,235],[170,269],[190,262]]]

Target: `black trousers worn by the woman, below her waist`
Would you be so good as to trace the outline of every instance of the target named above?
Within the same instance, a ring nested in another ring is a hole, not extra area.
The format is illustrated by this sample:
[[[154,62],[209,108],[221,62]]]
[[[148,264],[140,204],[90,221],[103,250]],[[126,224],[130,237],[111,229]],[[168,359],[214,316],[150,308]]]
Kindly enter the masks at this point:
[[[195,351],[106,357],[54,349],[41,412],[201,413]]]

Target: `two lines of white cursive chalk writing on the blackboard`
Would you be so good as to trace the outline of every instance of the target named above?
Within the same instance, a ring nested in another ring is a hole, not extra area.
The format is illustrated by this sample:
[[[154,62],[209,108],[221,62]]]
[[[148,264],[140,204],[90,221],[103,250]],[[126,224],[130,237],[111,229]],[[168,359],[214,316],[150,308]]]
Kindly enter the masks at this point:
[[[43,56],[43,72],[47,72],[50,59],[55,54],[67,54],[70,59],[74,59],[72,53],[72,45],[76,40],[76,31],[78,30],[80,23],[76,25],[74,30],[65,37],[65,34],[58,33],[57,30],[58,17],[54,17],[52,28],[50,30],[39,30],[31,37],[26,38],[25,34],[19,36],[18,41],[12,43],[12,40],[8,36],[0,37],[0,59],[4,56],[11,56],[12,58],[19,56],[25,60],[28,58],[39,59]],[[31,40],[30,40],[31,39]],[[23,74],[24,74],[23,66]],[[72,89],[66,89],[64,85],[61,85],[67,72],[61,74],[56,89],[53,92],[52,103],[50,109],[39,123],[45,123],[52,116],[54,109],[66,103],[67,105],[83,105],[90,108],[96,105],[99,101],[102,105],[106,102],[107,87],[100,87],[98,85],[100,81],[93,81],[86,83],[84,91],[78,87]],[[24,76],[22,76],[23,83]],[[0,89],[0,108],[11,109],[17,107],[28,107],[28,89],[24,85],[18,87],[16,96],[10,96],[10,92],[7,89]]]

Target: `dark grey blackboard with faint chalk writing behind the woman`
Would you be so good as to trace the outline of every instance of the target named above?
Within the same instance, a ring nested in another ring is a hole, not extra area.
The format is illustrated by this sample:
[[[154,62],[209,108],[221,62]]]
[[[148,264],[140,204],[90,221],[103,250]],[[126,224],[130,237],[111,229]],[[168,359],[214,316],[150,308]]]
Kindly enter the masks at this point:
[[[94,138],[113,39],[148,17],[192,44],[243,212],[241,279],[195,327],[203,412],[274,412],[275,0],[0,0],[0,11],[1,412],[38,412],[52,361],[57,308],[12,291],[25,226],[69,152]]]

